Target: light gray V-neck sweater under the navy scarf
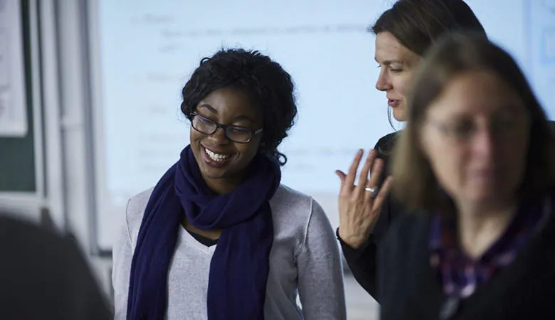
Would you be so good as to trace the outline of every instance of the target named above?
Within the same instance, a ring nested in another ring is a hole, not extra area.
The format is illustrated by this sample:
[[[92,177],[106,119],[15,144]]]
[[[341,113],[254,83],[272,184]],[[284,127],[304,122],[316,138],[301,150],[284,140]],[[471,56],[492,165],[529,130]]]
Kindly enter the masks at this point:
[[[152,189],[129,200],[113,247],[115,319],[125,319],[133,250]],[[274,242],[265,320],[346,319],[342,262],[322,207],[285,186],[270,200]],[[122,215],[123,216],[123,215]],[[205,320],[208,270],[216,245],[206,247],[180,228],[168,274],[169,320]],[[301,306],[297,306],[297,292]]]

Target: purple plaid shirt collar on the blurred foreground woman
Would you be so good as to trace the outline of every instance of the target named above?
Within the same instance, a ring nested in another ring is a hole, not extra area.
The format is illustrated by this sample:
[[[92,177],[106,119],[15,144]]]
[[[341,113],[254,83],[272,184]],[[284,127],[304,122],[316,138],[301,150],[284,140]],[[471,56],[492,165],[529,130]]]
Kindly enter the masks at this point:
[[[544,201],[522,203],[501,237],[477,259],[460,250],[455,217],[434,215],[430,228],[430,263],[438,272],[443,292],[449,296],[469,297],[478,286],[509,265],[519,249],[544,225],[554,199],[550,194]]]

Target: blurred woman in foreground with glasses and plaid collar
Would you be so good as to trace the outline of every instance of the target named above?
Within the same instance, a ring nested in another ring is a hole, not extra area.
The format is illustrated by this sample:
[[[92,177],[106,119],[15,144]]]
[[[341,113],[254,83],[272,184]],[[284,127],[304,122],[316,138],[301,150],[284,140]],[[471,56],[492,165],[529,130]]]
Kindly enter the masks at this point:
[[[553,319],[555,157],[517,63],[483,37],[426,56],[393,192],[418,208],[379,252],[382,319]]]

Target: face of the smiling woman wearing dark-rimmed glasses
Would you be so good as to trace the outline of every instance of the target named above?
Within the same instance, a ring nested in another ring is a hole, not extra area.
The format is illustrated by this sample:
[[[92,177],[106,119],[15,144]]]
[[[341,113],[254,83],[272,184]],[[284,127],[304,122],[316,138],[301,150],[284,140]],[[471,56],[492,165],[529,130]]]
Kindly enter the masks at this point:
[[[207,95],[188,116],[191,149],[204,181],[218,193],[233,190],[258,153],[263,124],[260,110],[243,92],[223,87]]]

